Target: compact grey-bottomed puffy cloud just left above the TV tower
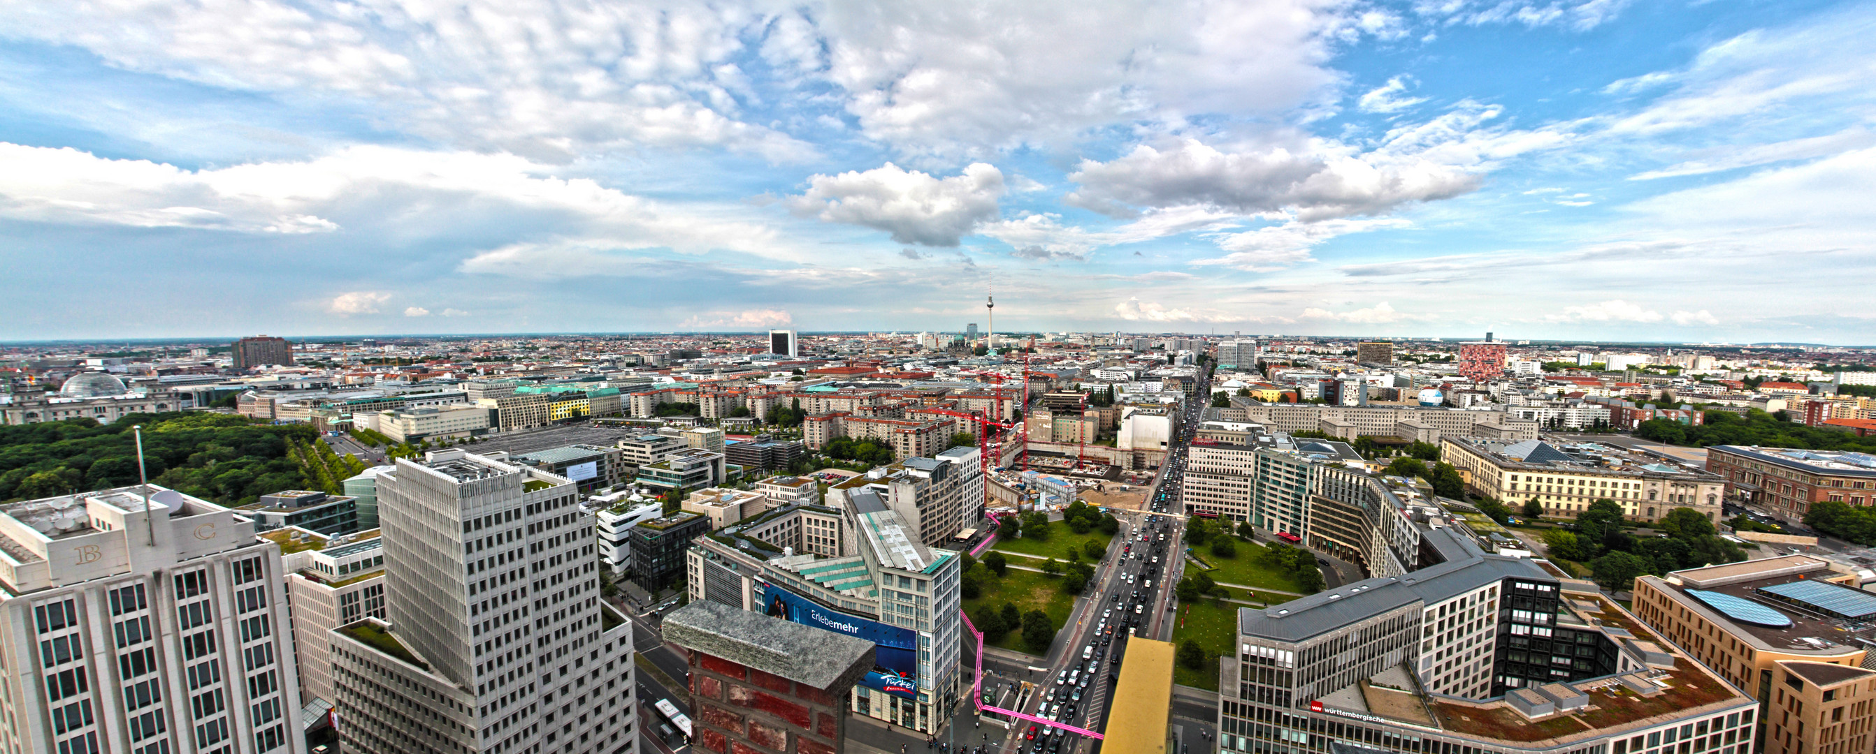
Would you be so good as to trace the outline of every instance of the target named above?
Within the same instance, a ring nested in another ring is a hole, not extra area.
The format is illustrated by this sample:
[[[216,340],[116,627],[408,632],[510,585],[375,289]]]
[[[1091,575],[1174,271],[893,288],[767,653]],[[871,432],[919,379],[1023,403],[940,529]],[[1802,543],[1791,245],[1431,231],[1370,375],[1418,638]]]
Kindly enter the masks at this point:
[[[788,206],[829,223],[887,231],[899,244],[957,246],[977,223],[996,218],[1002,195],[1004,173],[987,163],[951,178],[885,163],[867,173],[814,174]]]

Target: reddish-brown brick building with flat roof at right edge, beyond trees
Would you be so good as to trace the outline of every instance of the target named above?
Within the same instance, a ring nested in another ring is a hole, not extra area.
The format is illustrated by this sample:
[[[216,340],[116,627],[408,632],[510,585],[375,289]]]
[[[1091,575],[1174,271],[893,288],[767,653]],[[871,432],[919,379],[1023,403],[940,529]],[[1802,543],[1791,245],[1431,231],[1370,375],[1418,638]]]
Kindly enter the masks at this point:
[[[1715,445],[1707,471],[1739,497],[1801,520],[1812,503],[1876,505],[1876,458],[1861,452]]]

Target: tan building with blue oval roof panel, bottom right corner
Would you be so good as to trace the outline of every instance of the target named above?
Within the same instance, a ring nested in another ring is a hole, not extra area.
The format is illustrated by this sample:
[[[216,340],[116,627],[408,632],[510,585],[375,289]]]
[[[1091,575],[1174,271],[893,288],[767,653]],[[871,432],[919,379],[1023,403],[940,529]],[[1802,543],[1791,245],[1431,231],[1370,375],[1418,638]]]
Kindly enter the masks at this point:
[[[1876,596],[1855,581],[1805,555],[1726,563],[1638,578],[1634,613],[1763,705],[1758,752],[1868,752]]]

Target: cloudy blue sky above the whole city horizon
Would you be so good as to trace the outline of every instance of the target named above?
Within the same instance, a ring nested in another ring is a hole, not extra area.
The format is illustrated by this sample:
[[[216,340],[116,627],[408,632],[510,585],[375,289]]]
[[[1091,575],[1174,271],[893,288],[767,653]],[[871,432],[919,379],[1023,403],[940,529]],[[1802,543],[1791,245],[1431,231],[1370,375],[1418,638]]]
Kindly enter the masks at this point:
[[[0,339],[1876,345],[1876,4],[0,0]]]

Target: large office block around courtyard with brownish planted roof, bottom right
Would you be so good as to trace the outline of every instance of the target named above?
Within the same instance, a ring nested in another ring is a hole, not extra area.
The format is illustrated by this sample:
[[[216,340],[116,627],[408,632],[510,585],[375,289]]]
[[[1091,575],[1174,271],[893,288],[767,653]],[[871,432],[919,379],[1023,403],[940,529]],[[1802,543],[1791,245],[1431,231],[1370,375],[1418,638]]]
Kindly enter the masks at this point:
[[[1450,557],[1238,610],[1219,750],[1750,754],[1758,701],[1595,585],[1428,536]]]

